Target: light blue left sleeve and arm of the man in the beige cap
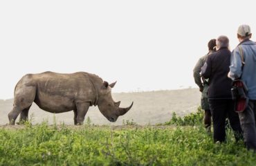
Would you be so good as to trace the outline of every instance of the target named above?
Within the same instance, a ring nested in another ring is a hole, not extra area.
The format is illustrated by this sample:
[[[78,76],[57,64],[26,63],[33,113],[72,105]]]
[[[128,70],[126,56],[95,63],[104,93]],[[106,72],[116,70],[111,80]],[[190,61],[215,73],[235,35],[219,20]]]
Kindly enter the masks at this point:
[[[228,73],[228,77],[232,80],[237,80],[241,77],[242,73],[242,62],[239,48],[235,48],[232,51],[231,59],[230,59],[230,72]]]

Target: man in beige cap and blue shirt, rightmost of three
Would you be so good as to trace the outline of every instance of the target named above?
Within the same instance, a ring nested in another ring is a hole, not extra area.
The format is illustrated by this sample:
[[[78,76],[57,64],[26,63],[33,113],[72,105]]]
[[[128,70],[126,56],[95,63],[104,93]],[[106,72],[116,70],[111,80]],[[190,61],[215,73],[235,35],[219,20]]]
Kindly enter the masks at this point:
[[[232,80],[241,79],[248,88],[248,105],[238,114],[246,147],[256,152],[256,44],[250,40],[251,37],[250,26],[239,26],[237,30],[239,44],[232,51],[228,77]]]

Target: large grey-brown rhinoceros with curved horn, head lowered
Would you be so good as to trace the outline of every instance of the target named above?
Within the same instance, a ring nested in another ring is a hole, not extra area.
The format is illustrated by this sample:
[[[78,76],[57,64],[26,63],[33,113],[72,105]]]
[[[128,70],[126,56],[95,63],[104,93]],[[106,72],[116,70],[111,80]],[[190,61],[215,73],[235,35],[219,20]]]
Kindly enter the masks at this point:
[[[116,82],[109,84],[98,75],[85,72],[71,74],[44,72],[27,74],[15,86],[13,109],[8,114],[10,124],[28,120],[28,110],[35,102],[40,109],[51,113],[74,111],[74,123],[82,124],[90,106],[98,106],[100,112],[110,122],[116,122],[131,109],[120,108],[114,102],[111,89]]]

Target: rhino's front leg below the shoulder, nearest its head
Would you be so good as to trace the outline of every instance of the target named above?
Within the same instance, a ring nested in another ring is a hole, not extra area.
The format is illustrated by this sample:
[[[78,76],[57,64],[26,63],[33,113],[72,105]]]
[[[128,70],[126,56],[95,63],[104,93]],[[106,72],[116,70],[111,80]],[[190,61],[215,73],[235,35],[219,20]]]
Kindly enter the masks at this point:
[[[84,122],[84,116],[86,115],[88,109],[90,107],[89,102],[78,102],[76,104],[77,109],[77,124],[82,125]]]

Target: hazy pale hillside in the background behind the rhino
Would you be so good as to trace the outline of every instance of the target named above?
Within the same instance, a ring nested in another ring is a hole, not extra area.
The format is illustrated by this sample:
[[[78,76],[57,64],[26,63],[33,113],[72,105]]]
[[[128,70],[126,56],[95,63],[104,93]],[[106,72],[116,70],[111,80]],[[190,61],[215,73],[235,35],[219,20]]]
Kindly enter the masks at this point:
[[[120,116],[114,123],[109,122],[98,110],[98,107],[90,107],[86,118],[90,118],[91,124],[121,125],[129,122],[136,124],[158,124],[170,120],[172,113],[184,116],[196,111],[199,107],[201,93],[199,89],[181,89],[172,91],[150,91],[136,93],[113,93],[115,101],[121,101],[120,107],[128,107],[134,101],[133,108]],[[8,112],[12,109],[13,100],[0,100],[0,125],[8,123]],[[19,117],[18,117],[19,118]],[[17,118],[17,120],[18,120]],[[48,113],[42,111],[35,103],[30,108],[29,118],[33,124],[48,121],[53,124],[73,124],[73,111],[67,113]],[[86,120],[85,120],[86,121]]]

